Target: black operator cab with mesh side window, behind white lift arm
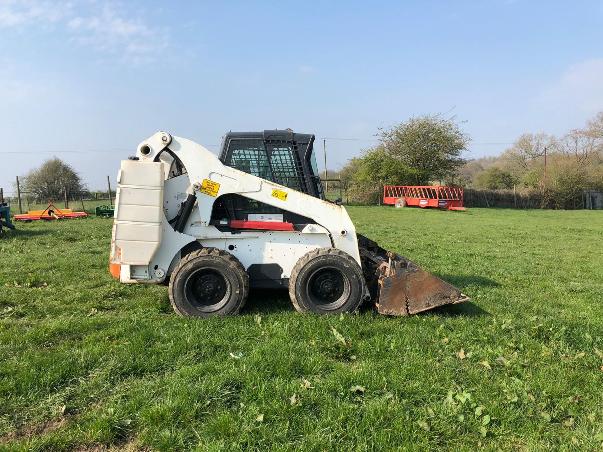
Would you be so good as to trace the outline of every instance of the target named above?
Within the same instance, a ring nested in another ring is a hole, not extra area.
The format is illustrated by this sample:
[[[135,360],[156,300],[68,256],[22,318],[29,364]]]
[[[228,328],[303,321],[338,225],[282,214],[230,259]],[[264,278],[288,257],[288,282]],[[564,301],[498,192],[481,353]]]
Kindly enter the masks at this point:
[[[291,129],[224,134],[219,160],[262,179],[324,199],[314,155],[314,135]],[[213,205],[212,219],[308,223],[300,215],[241,195],[223,195]]]

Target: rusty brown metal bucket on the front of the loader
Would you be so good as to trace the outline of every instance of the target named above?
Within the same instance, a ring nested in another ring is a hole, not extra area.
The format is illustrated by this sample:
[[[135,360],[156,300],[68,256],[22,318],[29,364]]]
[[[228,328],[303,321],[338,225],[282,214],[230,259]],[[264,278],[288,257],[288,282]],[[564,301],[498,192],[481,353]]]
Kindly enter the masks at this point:
[[[375,278],[377,312],[408,315],[443,304],[470,300],[452,284],[426,272],[416,262],[390,251],[390,261],[377,268]]]

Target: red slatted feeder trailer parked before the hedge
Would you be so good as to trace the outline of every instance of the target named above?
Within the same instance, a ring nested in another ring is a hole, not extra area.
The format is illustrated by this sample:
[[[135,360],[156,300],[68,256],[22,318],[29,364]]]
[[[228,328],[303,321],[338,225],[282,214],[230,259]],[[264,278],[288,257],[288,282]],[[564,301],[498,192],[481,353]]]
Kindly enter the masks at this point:
[[[467,207],[463,207],[463,187],[386,185],[383,187],[383,203],[396,207],[467,210]]]

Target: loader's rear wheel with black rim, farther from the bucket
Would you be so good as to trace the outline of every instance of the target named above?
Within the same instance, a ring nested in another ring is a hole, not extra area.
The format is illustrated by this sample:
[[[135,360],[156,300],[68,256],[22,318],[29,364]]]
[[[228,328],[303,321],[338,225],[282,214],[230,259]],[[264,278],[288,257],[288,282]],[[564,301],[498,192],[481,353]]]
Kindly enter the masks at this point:
[[[235,256],[218,248],[189,253],[169,279],[174,311],[187,317],[236,315],[249,294],[249,276]]]

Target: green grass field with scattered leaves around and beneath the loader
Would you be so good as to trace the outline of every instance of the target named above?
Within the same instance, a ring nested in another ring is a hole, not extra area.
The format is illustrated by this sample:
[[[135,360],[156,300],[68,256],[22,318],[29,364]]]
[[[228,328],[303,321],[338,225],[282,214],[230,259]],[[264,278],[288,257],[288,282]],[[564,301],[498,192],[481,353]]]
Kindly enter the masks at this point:
[[[603,212],[348,210],[473,300],[318,317],[252,292],[180,318],[110,277],[110,219],[17,224],[0,450],[603,450]]]

